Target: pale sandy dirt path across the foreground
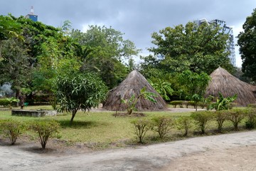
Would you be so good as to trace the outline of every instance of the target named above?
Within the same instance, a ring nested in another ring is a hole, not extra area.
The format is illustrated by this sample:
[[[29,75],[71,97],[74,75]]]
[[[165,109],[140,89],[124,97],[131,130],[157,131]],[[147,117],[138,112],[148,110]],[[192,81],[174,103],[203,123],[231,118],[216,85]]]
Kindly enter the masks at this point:
[[[0,170],[256,170],[255,157],[250,131],[78,155],[1,145]]]

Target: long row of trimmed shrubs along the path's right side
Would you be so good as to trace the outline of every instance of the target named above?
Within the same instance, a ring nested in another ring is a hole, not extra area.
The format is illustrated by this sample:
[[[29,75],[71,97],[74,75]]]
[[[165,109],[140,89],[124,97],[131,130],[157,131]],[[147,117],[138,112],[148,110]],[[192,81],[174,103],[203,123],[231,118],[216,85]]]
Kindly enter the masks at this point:
[[[192,113],[190,116],[181,116],[178,118],[161,116],[152,118],[151,120],[139,118],[132,120],[134,125],[134,133],[137,135],[139,142],[143,141],[144,136],[148,130],[154,130],[158,133],[159,138],[171,131],[171,128],[178,128],[184,131],[184,136],[188,135],[188,130],[196,125],[196,128],[202,134],[206,133],[206,126],[210,121],[215,121],[218,125],[217,130],[223,130],[223,123],[230,120],[233,123],[234,130],[238,130],[238,126],[245,120],[245,128],[256,128],[256,108],[233,109],[233,110],[219,110],[219,111],[199,111]]]

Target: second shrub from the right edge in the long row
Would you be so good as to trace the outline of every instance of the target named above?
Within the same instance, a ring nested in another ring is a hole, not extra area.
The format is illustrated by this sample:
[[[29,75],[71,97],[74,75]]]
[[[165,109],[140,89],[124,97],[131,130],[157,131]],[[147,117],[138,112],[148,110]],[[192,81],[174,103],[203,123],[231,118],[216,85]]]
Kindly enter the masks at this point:
[[[228,120],[233,123],[235,130],[238,130],[238,125],[241,123],[243,118],[245,118],[245,110],[235,109],[229,110],[228,112]]]

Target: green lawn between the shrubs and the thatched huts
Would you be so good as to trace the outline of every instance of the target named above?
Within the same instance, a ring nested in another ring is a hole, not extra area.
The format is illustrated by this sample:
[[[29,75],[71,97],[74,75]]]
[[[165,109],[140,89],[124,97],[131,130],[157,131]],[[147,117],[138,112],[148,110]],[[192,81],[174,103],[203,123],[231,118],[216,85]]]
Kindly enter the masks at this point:
[[[26,109],[50,109],[50,106],[28,106]],[[73,125],[70,125],[71,115],[64,113],[63,115],[57,115],[53,118],[57,120],[61,125],[60,134],[58,138],[60,140],[65,140],[67,143],[82,142],[92,147],[99,145],[100,147],[108,147],[109,145],[123,146],[131,145],[137,142],[134,135],[133,125],[130,123],[134,117],[114,117],[114,112],[78,112],[75,115]],[[178,118],[181,115],[191,115],[191,113],[170,113],[170,112],[145,112],[146,118],[153,118],[156,115],[171,115],[174,118]],[[31,118],[31,117],[21,117],[12,116],[11,110],[2,111],[0,110],[0,120],[13,118],[16,120],[23,120],[29,122],[30,120],[38,120],[43,118]],[[242,125],[244,125],[242,123]],[[230,132],[233,125],[227,121],[223,125],[224,132]],[[206,133],[208,135],[213,134],[213,130],[216,130],[217,125],[215,121],[211,121],[206,128]],[[195,134],[196,127],[191,128],[189,137],[197,136]],[[156,143],[163,141],[179,140],[182,139],[183,130],[177,130],[174,128],[169,135],[166,136],[164,140],[159,140],[157,133],[149,131],[145,137],[146,143]],[[29,134],[29,132],[27,133]],[[215,132],[214,132],[215,134]]]

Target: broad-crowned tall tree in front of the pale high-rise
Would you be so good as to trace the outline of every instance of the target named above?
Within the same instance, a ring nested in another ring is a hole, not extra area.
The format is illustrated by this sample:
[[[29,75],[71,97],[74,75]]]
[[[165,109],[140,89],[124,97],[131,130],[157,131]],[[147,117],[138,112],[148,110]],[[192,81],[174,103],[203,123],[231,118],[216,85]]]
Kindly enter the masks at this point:
[[[226,51],[228,34],[216,25],[188,22],[186,26],[166,27],[152,34],[149,48],[156,56],[161,56],[161,68],[169,72],[190,70],[210,74],[218,66],[230,71],[233,66]]]

